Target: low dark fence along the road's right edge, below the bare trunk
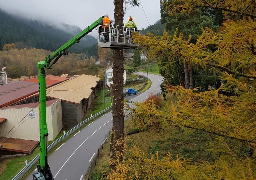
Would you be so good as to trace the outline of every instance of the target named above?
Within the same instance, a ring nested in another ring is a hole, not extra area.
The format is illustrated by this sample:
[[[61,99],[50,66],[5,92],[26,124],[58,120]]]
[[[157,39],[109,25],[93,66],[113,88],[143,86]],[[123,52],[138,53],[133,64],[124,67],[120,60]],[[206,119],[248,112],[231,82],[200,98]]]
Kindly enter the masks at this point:
[[[99,146],[98,148],[98,151],[97,153],[95,153],[94,155],[94,158],[91,160],[91,165],[86,173],[86,177],[88,177],[88,180],[91,179],[91,176],[93,175],[93,170],[95,170],[95,166],[96,166],[96,163],[97,163],[97,160],[99,159],[99,156],[100,156],[100,152],[101,150],[103,149],[103,145],[107,142],[107,141],[110,141],[110,139],[108,139],[111,135],[111,130],[106,134],[104,140],[101,142],[101,145]],[[105,147],[106,148],[106,147]],[[87,180],[87,179],[86,179]]]

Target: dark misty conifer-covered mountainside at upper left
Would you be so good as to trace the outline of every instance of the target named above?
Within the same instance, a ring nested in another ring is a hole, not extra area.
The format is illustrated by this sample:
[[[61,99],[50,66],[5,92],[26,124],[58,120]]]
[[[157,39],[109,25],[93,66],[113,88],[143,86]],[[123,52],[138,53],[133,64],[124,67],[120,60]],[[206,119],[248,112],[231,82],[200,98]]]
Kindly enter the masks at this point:
[[[72,29],[72,33],[82,31],[79,27],[64,23],[63,27]],[[0,9],[0,50],[6,43],[15,43],[18,49],[35,47],[54,51],[76,35],[72,33],[67,33],[40,21],[13,17]],[[69,51],[96,57],[98,46],[95,43],[97,40],[94,37],[86,35],[80,43],[70,47]]]

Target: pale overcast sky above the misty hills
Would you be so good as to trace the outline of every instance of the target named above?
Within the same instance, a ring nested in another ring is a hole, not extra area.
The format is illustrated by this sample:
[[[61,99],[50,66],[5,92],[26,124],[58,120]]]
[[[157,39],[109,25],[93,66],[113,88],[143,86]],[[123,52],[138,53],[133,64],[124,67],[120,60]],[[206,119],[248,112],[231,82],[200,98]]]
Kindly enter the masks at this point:
[[[140,0],[140,2],[142,6],[135,8],[126,5],[130,10],[125,11],[124,24],[128,21],[128,17],[132,16],[137,28],[142,29],[160,19],[159,0]],[[113,0],[0,0],[0,8],[29,19],[77,25],[82,30],[105,13],[109,15],[110,20],[114,19]],[[90,33],[94,37],[96,34],[96,30]]]

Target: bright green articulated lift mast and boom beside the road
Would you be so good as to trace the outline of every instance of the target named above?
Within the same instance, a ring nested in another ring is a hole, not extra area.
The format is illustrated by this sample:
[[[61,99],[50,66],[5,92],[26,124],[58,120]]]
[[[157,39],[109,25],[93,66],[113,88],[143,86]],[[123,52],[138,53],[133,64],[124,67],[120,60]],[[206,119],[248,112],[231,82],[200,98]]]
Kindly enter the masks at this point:
[[[37,63],[39,69],[38,72],[38,92],[39,92],[39,146],[40,146],[40,160],[37,165],[37,173],[33,174],[33,179],[47,179],[53,180],[53,175],[51,174],[50,167],[47,163],[47,139],[48,129],[46,124],[46,85],[45,85],[45,68],[52,69],[52,66],[58,61],[62,55],[68,55],[66,51],[69,47],[78,43],[81,38],[86,34],[91,32],[95,27],[99,25],[102,17],[97,21],[92,23],[90,26],[86,27],[79,34],[75,35],[72,39],[62,45],[58,50],[54,51],[51,55],[45,57],[45,61],[40,61]],[[54,61],[52,62],[52,60]]]

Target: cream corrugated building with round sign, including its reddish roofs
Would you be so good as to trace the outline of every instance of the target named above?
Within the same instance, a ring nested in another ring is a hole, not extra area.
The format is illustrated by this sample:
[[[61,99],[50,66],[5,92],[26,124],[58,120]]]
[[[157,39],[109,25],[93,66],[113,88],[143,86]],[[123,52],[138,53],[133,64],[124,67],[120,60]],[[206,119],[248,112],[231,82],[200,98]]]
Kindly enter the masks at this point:
[[[0,157],[30,153],[34,147],[28,144],[36,146],[39,142],[39,104],[3,107],[0,117],[5,119],[0,122]],[[61,99],[46,101],[46,120],[47,138],[53,141],[62,129]]]

